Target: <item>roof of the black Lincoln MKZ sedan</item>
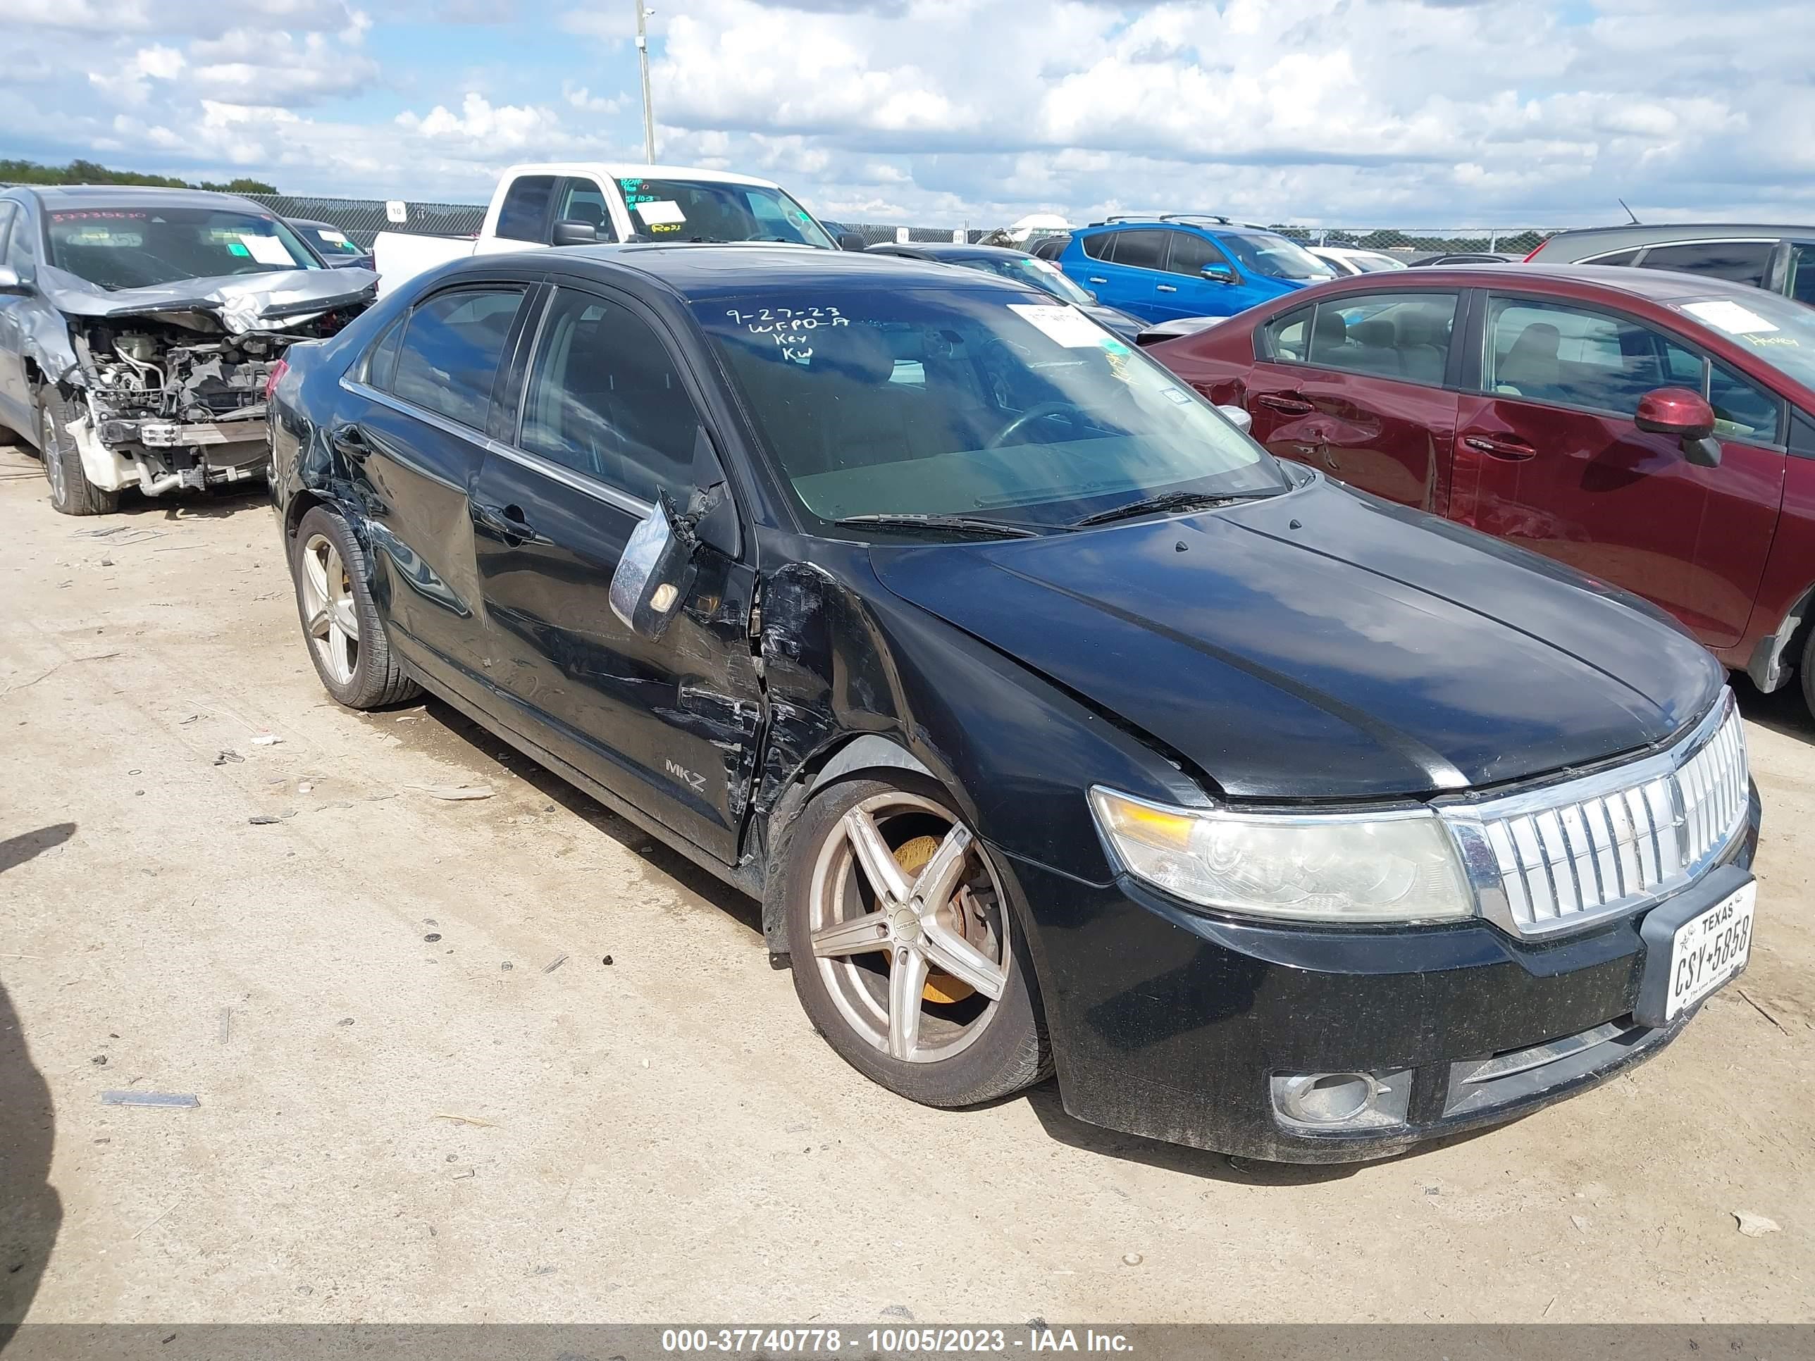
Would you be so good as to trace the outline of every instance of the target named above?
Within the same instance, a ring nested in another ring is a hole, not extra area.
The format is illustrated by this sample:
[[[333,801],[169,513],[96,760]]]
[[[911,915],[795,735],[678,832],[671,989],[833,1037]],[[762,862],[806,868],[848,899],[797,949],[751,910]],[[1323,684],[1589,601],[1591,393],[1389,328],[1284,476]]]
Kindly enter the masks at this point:
[[[506,256],[474,256],[472,267]],[[731,298],[775,289],[1015,289],[1024,285],[976,270],[953,270],[931,259],[871,254],[868,250],[813,250],[773,245],[568,245],[535,252],[546,263],[559,259],[579,272],[608,279],[617,272],[639,274],[666,285],[688,301]]]

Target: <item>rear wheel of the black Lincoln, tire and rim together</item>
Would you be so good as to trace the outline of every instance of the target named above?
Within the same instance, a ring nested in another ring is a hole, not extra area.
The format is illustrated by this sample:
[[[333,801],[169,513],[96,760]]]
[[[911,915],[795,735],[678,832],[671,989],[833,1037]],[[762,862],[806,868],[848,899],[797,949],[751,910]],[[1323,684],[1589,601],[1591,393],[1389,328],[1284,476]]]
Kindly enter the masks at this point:
[[[321,506],[303,515],[290,575],[309,659],[334,699],[354,710],[374,710],[417,693],[390,655],[390,641],[365,584],[365,552],[347,521]]]

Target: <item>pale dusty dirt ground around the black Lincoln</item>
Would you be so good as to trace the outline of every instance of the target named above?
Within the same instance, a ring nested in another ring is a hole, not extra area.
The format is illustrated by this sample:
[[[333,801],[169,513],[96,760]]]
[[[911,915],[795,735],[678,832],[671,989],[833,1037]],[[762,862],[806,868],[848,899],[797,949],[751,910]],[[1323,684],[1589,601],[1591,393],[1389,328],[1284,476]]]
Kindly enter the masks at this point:
[[[1232,1165],[873,1087],[750,902],[329,702],[261,497],[67,519],[0,448],[0,1323],[1815,1319],[1815,724],[1741,688],[1757,944],[1672,1049]]]

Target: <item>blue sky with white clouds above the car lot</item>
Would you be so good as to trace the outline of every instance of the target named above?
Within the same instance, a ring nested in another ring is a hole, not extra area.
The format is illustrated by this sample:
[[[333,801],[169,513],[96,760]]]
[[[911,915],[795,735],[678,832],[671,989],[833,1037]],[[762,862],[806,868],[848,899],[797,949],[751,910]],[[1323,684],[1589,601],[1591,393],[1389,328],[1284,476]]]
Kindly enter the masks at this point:
[[[0,156],[483,200],[641,160],[633,0],[0,0]],[[657,0],[657,154],[828,218],[1815,220],[1808,0]]]

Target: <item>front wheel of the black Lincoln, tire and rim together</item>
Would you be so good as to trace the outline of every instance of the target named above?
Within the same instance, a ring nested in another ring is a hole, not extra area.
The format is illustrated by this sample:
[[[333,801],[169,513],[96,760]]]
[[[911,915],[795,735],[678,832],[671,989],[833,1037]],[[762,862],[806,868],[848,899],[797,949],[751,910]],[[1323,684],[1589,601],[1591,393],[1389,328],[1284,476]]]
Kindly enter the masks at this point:
[[[938,1107],[1045,1074],[1009,896],[942,793],[835,784],[802,811],[786,864],[795,991],[846,1062]]]

